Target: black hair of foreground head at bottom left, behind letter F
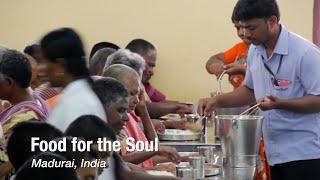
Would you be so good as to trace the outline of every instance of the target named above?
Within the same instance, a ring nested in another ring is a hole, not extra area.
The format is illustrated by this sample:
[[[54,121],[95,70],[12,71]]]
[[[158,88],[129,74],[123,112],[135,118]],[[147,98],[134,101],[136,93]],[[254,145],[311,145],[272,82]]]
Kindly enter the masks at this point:
[[[32,137],[51,141],[62,136],[62,132],[57,128],[35,119],[18,123],[13,127],[7,144],[9,160],[18,170],[27,159],[40,152],[38,148],[35,149],[35,152],[31,152]]]

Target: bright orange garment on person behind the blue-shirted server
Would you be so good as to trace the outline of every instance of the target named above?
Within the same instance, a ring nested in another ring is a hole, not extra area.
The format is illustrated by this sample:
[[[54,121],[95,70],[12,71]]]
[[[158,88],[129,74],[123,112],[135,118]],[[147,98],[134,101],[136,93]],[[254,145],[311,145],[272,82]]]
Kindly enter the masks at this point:
[[[246,61],[241,62],[241,60],[246,59],[248,49],[249,49],[249,46],[243,41],[234,45],[232,48],[228,49],[223,53],[224,61],[225,61],[224,63],[231,64],[237,61],[238,63],[244,64],[246,66]],[[229,81],[234,88],[238,88],[239,86],[241,86],[243,80],[244,80],[243,75],[229,76]]]

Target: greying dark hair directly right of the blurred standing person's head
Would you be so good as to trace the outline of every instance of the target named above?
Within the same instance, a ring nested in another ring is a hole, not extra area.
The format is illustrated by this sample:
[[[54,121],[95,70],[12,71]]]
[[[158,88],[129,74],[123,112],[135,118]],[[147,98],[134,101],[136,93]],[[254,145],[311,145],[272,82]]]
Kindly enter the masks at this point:
[[[112,48],[102,48],[98,50],[92,58],[90,58],[90,74],[91,75],[98,75],[99,71],[101,71],[104,67],[104,64],[107,61],[107,58],[116,52],[115,49]]]

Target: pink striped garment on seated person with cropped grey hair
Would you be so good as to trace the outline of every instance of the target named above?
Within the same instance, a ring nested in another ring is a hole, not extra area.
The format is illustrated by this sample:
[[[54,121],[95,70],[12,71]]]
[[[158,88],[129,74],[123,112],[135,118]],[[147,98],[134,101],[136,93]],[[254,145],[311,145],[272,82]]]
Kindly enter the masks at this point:
[[[126,125],[123,127],[125,134],[127,137],[133,137],[135,141],[148,141],[147,137],[145,136],[143,130],[140,128],[138,122],[140,121],[140,117],[135,114],[134,111],[131,111],[127,114],[129,121],[126,123]],[[121,152],[124,153],[124,152]],[[130,152],[126,152],[130,153]],[[148,159],[144,162],[142,162],[141,167],[149,168],[153,166],[152,159]]]

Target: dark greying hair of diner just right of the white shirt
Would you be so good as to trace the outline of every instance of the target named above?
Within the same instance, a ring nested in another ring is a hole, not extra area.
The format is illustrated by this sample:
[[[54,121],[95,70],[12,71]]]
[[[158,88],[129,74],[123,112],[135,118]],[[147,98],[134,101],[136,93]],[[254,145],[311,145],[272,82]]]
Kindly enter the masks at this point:
[[[102,104],[109,107],[120,98],[129,97],[129,92],[120,81],[113,78],[101,78],[93,83],[93,91]]]

